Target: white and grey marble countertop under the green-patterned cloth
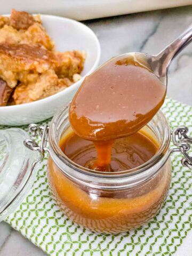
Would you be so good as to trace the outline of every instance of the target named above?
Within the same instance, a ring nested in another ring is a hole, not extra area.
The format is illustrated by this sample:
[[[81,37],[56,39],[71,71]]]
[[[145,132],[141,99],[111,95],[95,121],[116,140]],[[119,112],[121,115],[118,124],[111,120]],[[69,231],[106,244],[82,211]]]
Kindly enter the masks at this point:
[[[101,43],[100,63],[125,52],[156,54],[192,22],[192,6],[85,21]],[[192,105],[192,44],[169,69],[167,95]],[[189,234],[192,239],[192,232]],[[191,243],[190,246],[192,255]],[[0,256],[43,256],[41,249],[9,225],[0,223]],[[183,255],[178,249],[177,256]],[[115,255],[114,255],[115,256]]]

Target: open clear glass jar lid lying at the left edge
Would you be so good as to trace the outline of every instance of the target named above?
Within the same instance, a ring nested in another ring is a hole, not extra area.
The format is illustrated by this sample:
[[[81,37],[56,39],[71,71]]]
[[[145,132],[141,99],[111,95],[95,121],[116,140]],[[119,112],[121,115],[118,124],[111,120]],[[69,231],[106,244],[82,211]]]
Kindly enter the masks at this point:
[[[34,181],[38,152],[24,146],[29,138],[19,128],[0,130],[0,221],[17,208]]]

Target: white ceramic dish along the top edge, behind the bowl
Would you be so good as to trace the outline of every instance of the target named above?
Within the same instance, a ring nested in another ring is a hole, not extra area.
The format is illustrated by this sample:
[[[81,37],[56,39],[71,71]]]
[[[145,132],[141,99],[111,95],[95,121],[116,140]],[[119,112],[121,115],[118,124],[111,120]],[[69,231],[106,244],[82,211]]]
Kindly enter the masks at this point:
[[[191,0],[8,0],[2,1],[1,13],[15,8],[20,11],[61,15],[75,20],[89,20],[183,5],[191,5]]]

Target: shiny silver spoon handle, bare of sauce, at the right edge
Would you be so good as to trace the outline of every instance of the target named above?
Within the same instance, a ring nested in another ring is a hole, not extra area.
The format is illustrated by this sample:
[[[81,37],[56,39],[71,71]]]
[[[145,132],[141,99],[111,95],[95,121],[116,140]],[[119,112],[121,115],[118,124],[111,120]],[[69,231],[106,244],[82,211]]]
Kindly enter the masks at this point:
[[[167,45],[165,49],[156,56],[156,59],[161,63],[161,71],[163,76],[166,75],[166,71],[174,57],[191,41],[192,24],[177,39],[175,39],[171,44]]]

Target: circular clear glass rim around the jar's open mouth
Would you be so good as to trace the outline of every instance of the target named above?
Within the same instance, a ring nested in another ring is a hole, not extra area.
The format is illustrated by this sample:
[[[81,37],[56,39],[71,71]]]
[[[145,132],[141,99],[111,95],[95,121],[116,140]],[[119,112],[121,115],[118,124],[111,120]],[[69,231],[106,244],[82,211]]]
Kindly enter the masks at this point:
[[[121,172],[99,172],[99,171],[94,171],[87,169],[86,167],[80,166],[73,161],[71,161],[61,150],[59,146],[59,142],[57,141],[57,136],[59,134],[59,128],[61,123],[68,119],[68,109],[69,109],[69,104],[63,107],[61,110],[59,110],[53,117],[52,122],[50,124],[50,129],[49,129],[49,143],[50,143],[50,156],[54,160],[55,164],[57,164],[57,159],[60,160],[60,163],[65,163],[68,167],[73,168],[76,172],[89,175],[92,177],[97,177],[97,178],[122,178],[122,177],[135,177],[136,175],[139,175],[148,169],[150,169],[151,166],[156,165],[162,158],[165,157],[167,149],[169,148],[170,145],[170,140],[171,140],[171,131],[170,131],[170,126],[169,123],[165,117],[165,115],[162,113],[161,110],[157,112],[155,115],[156,118],[163,124],[163,140],[161,142],[161,145],[159,145],[159,148],[156,152],[156,154],[151,157],[146,163],[143,163],[140,166],[134,167],[133,169],[130,170],[125,170]],[[154,119],[154,118],[153,118]],[[152,120],[153,120],[152,119]],[[59,169],[62,170],[62,166],[59,166],[57,164]]]

